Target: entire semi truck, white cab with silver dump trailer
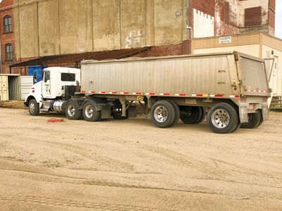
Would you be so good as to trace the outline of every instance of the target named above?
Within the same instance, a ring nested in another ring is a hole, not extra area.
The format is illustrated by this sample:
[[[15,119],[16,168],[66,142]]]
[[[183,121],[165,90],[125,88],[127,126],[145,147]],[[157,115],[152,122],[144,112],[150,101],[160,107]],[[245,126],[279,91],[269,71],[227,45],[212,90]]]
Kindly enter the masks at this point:
[[[207,117],[213,132],[225,134],[259,127],[269,117],[270,96],[265,61],[234,51],[45,68],[25,106],[30,115],[66,113],[69,120],[97,122],[136,117],[140,103],[157,127]]]

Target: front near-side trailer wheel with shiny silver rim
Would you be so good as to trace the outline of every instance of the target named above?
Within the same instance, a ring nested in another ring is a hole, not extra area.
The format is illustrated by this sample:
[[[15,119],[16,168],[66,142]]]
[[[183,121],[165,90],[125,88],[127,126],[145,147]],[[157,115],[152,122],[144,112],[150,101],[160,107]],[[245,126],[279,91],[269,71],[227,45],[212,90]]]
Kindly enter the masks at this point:
[[[151,109],[152,121],[157,127],[171,127],[176,119],[176,112],[172,103],[168,101],[157,101]]]

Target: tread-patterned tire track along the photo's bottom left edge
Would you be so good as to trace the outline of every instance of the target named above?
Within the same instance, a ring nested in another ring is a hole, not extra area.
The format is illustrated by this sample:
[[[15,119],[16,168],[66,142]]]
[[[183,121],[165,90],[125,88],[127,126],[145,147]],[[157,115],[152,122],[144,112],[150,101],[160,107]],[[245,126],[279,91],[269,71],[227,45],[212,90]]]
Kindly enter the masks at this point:
[[[61,207],[88,208],[94,210],[148,210],[148,211],[159,210],[156,207],[142,207],[142,206],[133,206],[133,205],[125,205],[125,204],[113,205],[109,203],[92,203],[92,202],[84,202],[78,200],[66,200],[66,199],[48,198],[48,197],[40,197],[40,196],[0,195],[0,200],[23,202],[23,203],[36,203],[41,205],[55,205]]]

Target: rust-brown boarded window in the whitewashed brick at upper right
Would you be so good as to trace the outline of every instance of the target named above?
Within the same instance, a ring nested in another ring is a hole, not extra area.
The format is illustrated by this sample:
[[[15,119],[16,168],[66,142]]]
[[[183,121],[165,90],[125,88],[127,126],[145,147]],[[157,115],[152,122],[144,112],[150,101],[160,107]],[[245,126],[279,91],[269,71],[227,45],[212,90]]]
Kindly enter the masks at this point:
[[[252,7],[245,9],[245,27],[262,25],[262,7]]]

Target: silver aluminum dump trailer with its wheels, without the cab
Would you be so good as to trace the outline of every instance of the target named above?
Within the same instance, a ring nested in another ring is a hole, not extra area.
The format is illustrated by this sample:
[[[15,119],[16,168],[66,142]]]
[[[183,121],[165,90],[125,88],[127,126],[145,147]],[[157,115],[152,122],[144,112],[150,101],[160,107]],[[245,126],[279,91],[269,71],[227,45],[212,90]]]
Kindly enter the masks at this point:
[[[197,124],[209,110],[209,127],[228,133],[259,127],[268,118],[271,89],[264,60],[230,52],[84,60],[76,97],[85,96],[104,104],[117,100],[121,117],[128,115],[133,101],[145,102],[158,127],[171,127],[179,117],[185,124]]]

